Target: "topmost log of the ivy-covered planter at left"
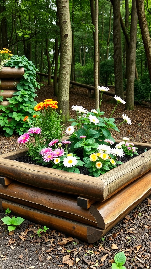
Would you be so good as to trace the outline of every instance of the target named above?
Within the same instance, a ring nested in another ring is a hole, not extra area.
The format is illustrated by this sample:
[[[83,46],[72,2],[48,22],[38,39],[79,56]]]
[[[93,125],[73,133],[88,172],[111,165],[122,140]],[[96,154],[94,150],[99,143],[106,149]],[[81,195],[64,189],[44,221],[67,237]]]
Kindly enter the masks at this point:
[[[11,79],[11,78],[20,78],[24,75],[24,68],[15,68],[15,67],[3,67],[0,71],[0,76],[2,79]]]

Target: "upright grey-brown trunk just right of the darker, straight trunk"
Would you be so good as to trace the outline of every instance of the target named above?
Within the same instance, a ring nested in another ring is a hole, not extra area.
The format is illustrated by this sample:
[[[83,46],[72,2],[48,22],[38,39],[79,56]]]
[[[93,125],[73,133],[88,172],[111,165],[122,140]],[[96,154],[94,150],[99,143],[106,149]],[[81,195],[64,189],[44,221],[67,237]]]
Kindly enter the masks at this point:
[[[136,2],[132,0],[131,29],[129,47],[129,66],[126,89],[126,110],[134,110],[134,82],[135,82],[135,58],[136,58],[136,35],[137,35],[137,10]]]

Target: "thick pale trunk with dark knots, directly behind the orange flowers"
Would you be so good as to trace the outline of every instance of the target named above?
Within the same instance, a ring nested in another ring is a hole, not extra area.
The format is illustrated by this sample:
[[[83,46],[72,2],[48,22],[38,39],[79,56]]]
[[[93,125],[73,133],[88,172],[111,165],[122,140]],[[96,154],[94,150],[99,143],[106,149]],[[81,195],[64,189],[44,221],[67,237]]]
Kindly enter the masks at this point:
[[[62,120],[63,122],[66,122],[70,118],[69,89],[72,57],[72,31],[70,23],[69,0],[58,1],[58,12],[61,41],[58,102],[59,109],[62,111]]]

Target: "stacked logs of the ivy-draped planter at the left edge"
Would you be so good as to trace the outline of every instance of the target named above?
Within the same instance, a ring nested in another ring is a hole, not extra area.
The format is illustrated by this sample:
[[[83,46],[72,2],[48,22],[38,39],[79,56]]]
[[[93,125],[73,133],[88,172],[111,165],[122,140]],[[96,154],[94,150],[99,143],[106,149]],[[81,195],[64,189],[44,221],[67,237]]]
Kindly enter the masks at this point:
[[[0,105],[8,106],[9,102],[7,98],[12,98],[13,94],[17,91],[16,86],[20,82],[20,79],[24,75],[24,68],[15,68],[15,67],[3,67],[0,71],[1,79],[1,95],[3,96],[3,102],[0,102]],[[11,109],[10,109],[11,111]],[[0,110],[2,113],[3,110]]]

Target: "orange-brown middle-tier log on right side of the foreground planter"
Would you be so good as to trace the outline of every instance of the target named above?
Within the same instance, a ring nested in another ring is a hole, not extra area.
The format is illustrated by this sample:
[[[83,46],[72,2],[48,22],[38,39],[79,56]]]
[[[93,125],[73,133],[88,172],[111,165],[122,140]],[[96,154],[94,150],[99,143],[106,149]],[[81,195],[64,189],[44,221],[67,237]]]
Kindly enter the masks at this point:
[[[151,194],[151,171],[141,176],[124,189],[107,199],[93,204],[89,211],[94,215],[98,227],[113,227],[131,210]]]

